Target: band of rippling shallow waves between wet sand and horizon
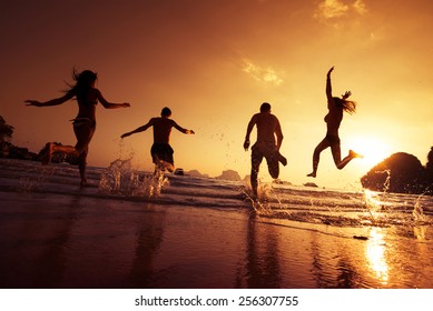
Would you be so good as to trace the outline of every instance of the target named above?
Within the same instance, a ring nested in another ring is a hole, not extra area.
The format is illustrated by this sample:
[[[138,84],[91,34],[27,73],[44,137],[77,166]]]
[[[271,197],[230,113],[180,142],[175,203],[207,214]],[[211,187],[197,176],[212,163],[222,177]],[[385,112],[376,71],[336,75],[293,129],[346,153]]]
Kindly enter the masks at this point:
[[[433,199],[426,195],[337,191],[297,185],[262,184],[263,197],[250,198],[245,182],[135,171],[128,160],[108,168],[88,168],[90,187],[79,187],[77,167],[0,161],[2,191],[79,195],[214,209],[249,209],[275,220],[334,227],[432,223]]]

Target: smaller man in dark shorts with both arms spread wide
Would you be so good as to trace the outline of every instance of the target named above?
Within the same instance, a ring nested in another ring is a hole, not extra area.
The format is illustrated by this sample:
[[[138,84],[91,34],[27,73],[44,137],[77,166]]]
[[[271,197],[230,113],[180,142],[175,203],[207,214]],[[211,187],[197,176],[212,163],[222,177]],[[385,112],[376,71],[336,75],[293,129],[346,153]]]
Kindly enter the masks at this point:
[[[151,118],[147,124],[139,127],[138,129],[124,133],[120,138],[126,138],[134,133],[146,131],[148,128],[154,127],[154,144],[151,146],[150,153],[152,162],[156,165],[156,169],[165,170],[169,172],[175,171],[175,161],[173,159],[174,150],[169,144],[171,128],[177,129],[178,131],[185,134],[194,134],[193,130],[187,130],[179,127],[174,120],[169,119],[171,116],[171,110],[169,108],[164,108],[161,111],[161,117]]]

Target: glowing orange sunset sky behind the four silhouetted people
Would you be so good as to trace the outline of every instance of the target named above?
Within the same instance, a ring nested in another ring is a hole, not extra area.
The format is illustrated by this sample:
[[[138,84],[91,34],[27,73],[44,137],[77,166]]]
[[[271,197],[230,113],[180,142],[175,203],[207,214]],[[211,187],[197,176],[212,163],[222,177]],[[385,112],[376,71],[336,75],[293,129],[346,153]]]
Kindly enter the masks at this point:
[[[47,141],[75,144],[77,103],[26,107],[60,97],[71,72],[98,72],[108,101],[98,104],[90,165],[134,154],[151,170],[151,130],[120,134],[173,110],[175,164],[216,177],[249,174],[243,142],[262,102],[281,121],[281,178],[295,184],[355,190],[360,178],[394,152],[423,164],[433,144],[433,2],[431,0],[39,0],[3,1],[0,11],[0,116],[12,142],[38,152]],[[316,179],[312,153],[324,138],[325,77],[351,90],[357,113],[345,114],[342,153],[364,153],[338,171],[329,150]],[[255,141],[253,131],[252,140]],[[266,163],[259,178],[269,179]]]

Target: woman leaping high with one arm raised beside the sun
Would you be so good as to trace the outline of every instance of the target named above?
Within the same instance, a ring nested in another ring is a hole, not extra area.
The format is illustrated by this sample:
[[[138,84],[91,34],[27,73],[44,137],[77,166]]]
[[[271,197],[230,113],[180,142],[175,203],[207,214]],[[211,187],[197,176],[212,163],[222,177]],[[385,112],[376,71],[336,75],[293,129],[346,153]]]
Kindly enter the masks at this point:
[[[328,147],[331,147],[334,162],[338,170],[342,170],[352,159],[363,157],[353,150],[350,150],[347,157],[342,160],[338,137],[339,124],[343,120],[343,112],[346,111],[351,114],[354,113],[356,111],[356,103],[354,101],[347,100],[347,98],[352,94],[351,91],[345,92],[342,98],[332,96],[331,72],[333,70],[334,67],[331,68],[326,74],[326,98],[328,109],[328,113],[325,117],[327,129],[326,137],[314,149],[313,172],[307,174],[308,177],[316,177],[321,152]]]

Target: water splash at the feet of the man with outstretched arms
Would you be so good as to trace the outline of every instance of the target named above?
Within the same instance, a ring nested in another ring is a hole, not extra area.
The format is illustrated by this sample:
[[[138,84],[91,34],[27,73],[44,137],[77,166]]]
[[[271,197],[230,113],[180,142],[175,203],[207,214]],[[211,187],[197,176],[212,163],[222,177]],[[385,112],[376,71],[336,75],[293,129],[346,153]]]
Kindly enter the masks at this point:
[[[145,175],[132,169],[131,159],[118,159],[102,172],[98,189],[109,194],[155,198],[167,183],[163,171]]]

